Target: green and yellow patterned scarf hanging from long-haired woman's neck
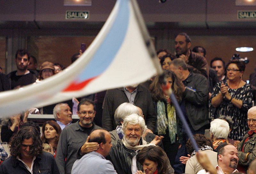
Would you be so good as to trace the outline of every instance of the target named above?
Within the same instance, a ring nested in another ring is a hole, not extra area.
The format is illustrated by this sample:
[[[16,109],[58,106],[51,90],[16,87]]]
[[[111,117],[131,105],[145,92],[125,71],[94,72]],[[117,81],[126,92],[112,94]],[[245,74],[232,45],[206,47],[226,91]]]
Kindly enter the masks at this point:
[[[167,119],[168,118],[168,119]],[[171,143],[175,143],[177,134],[176,111],[173,105],[167,104],[167,117],[165,113],[165,104],[163,101],[157,102],[157,133],[158,135],[166,134],[166,129],[169,129],[169,137]]]

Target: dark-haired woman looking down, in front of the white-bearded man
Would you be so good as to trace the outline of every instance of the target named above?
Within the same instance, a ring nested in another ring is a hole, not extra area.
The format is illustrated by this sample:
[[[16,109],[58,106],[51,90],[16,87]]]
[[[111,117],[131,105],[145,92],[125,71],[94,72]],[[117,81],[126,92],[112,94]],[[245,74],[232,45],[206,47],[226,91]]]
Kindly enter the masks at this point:
[[[159,146],[147,146],[137,155],[137,160],[143,165],[143,170],[147,174],[168,174],[169,159],[164,150]]]

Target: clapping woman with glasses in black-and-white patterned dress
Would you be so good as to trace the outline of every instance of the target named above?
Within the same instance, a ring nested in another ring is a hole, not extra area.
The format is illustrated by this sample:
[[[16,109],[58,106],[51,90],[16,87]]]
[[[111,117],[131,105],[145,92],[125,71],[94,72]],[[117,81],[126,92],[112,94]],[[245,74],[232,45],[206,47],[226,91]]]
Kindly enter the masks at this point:
[[[216,107],[214,118],[222,115],[233,120],[233,130],[229,138],[242,140],[247,133],[247,111],[252,107],[252,88],[242,80],[245,64],[232,60],[226,66],[228,80],[223,80],[214,87],[211,105]]]

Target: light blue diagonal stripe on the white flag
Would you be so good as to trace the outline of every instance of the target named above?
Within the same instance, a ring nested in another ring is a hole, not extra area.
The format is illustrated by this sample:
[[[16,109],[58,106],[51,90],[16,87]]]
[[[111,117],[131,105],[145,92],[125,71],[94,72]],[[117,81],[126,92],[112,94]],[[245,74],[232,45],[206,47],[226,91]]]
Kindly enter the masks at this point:
[[[118,0],[116,3],[119,3],[116,20],[86,69],[78,76],[79,81],[77,83],[103,73],[115,58],[124,41],[130,16],[129,0]]]

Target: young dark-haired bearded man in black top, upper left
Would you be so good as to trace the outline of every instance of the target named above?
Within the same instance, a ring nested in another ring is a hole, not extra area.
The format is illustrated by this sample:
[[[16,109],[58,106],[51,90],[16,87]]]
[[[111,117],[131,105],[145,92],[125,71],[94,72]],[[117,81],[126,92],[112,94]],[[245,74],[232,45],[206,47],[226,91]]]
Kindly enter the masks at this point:
[[[11,80],[11,89],[36,82],[36,75],[28,70],[29,53],[27,50],[18,50],[15,54],[17,71],[8,74]]]

